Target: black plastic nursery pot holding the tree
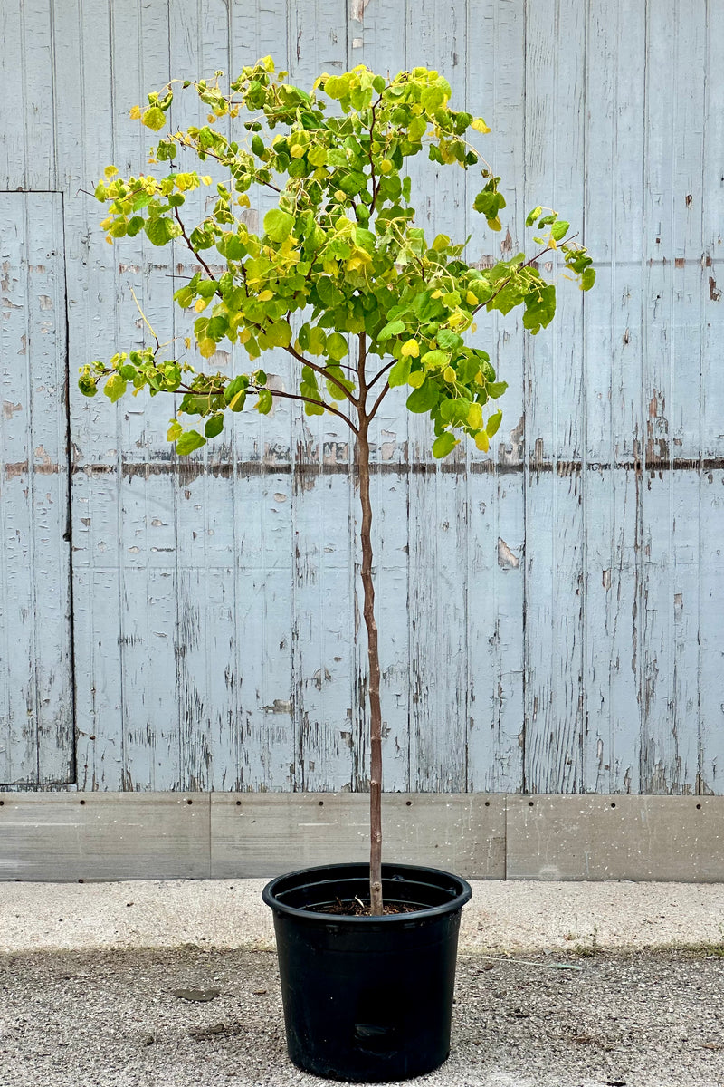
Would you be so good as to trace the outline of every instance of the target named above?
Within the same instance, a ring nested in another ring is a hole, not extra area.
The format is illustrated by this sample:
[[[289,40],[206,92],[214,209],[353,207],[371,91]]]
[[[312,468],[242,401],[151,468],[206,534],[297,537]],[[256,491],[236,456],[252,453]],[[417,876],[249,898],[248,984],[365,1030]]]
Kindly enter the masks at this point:
[[[385,902],[418,907],[382,917],[316,912],[369,901],[366,864],[279,876],[262,898],[274,911],[287,1050],[315,1075],[353,1083],[406,1079],[450,1049],[460,910],[472,890],[437,869],[382,865]]]

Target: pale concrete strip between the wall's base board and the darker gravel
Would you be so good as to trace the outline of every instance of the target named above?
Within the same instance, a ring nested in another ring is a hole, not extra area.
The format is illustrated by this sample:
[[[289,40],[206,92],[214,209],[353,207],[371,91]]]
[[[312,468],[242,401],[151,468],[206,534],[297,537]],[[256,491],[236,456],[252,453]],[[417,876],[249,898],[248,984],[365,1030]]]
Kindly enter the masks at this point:
[[[0,953],[270,948],[264,879],[0,883]],[[724,885],[475,880],[460,950],[724,944]]]

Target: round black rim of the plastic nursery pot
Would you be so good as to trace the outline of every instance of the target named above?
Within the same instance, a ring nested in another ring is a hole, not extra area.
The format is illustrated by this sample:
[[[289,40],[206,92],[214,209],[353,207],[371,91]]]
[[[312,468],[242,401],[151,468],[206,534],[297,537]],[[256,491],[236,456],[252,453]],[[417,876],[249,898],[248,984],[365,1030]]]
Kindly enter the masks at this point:
[[[415,924],[416,921],[429,921],[434,917],[443,916],[447,913],[454,913],[460,910],[466,902],[469,902],[472,898],[472,887],[467,879],[462,876],[456,876],[452,872],[446,872],[444,869],[433,869],[424,864],[396,864],[394,862],[382,864],[382,879],[390,879],[390,871],[392,870],[392,875],[401,875],[405,877],[407,874],[410,876],[419,874],[430,874],[436,876],[443,876],[446,879],[453,879],[459,886],[459,890],[454,895],[448,902],[444,902],[442,905],[430,905],[422,910],[415,910],[414,913],[390,913],[383,914],[382,916],[350,916],[345,914],[336,913],[319,913],[316,910],[301,909],[295,905],[289,905],[287,902],[280,901],[276,896],[276,890],[283,880],[294,879],[297,876],[312,876],[314,882],[322,883],[325,880],[315,880],[315,876],[321,876],[323,873],[331,874],[333,872],[340,872],[340,870],[359,869],[360,873],[364,871],[369,871],[369,864],[366,861],[348,861],[340,862],[339,864],[319,864],[314,867],[296,869],[294,872],[284,872],[283,875],[275,876],[269,883],[264,887],[262,891],[262,900],[276,913],[284,914],[288,917],[297,917],[301,921],[323,921],[326,924],[334,925],[409,925]],[[385,873],[386,869],[386,873]],[[415,880],[412,880],[415,882]],[[290,888],[291,889],[291,888]]]

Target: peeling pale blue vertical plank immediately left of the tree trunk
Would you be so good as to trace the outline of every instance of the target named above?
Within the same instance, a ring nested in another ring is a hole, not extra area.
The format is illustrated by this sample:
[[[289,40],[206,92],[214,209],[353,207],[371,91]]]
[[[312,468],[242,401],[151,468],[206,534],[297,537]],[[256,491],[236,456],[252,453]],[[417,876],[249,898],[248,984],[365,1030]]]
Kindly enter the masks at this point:
[[[343,0],[310,0],[290,9],[288,18],[291,79],[309,88],[320,71],[344,71]],[[293,364],[291,385],[297,380]],[[353,435],[333,416],[295,411],[291,417],[294,788],[351,788],[353,780],[364,788],[367,752],[358,748],[355,761],[350,735],[355,722],[352,495],[346,472],[335,471],[340,466],[348,471]]]

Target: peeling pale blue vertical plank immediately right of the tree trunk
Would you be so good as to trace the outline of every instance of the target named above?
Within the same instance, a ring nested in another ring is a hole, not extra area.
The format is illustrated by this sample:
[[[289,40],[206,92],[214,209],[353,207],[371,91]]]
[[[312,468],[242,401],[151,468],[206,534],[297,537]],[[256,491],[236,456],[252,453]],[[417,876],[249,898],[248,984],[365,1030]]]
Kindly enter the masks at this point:
[[[424,63],[444,72],[457,101],[467,100],[467,18],[436,0],[407,11],[406,67]],[[466,177],[409,161],[419,223],[437,233],[467,235]],[[433,179],[434,178],[434,179]],[[427,416],[408,422],[408,455],[424,471],[409,477],[410,788],[458,791],[466,787],[468,744],[467,600],[469,499],[467,475],[431,455]],[[467,464],[465,449],[452,454]],[[449,466],[449,465],[446,465]]]

